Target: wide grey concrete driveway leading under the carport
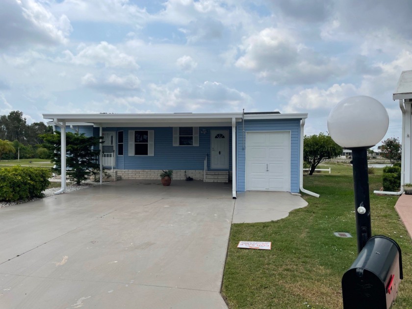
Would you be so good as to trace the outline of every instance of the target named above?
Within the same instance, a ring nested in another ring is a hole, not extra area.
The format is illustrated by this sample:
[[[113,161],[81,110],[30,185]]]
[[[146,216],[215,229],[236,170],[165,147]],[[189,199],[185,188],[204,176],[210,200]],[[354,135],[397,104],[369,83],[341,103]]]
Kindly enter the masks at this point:
[[[227,308],[235,201],[222,183],[122,180],[1,208],[0,308]]]

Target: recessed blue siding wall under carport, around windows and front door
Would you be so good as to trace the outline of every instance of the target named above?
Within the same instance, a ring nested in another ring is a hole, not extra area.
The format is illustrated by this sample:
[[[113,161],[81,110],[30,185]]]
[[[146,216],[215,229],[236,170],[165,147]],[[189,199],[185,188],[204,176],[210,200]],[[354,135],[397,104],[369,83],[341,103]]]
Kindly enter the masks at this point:
[[[98,129],[98,128],[97,128]],[[202,130],[206,129],[206,134]],[[199,146],[173,146],[173,128],[103,128],[103,132],[116,132],[116,166],[126,170],[203,170],[207,154],[207,168],[210,170],[210,130],[229,131],[229,169],[232,168],[232,128],[200,127]],[[129,130],[154,130],[154,156],[129,156]],[[118,155],[117,132],[123,131],[124,155]],[[99,130],[95,136],[99,135]]]

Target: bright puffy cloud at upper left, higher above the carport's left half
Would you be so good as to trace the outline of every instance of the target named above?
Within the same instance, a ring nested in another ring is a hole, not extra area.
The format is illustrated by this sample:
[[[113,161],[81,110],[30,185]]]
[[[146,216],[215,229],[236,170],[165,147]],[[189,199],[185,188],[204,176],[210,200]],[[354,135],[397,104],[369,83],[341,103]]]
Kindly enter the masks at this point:
[[[104,41],[98,45],[81,45],[79,49],[80,51],[77,55],[74,55],[70,51],[65,51],[65,58],[61,60],[89,66],[104,64],[106,68],[139,68],[132,56],[121,52],[116,46]]]

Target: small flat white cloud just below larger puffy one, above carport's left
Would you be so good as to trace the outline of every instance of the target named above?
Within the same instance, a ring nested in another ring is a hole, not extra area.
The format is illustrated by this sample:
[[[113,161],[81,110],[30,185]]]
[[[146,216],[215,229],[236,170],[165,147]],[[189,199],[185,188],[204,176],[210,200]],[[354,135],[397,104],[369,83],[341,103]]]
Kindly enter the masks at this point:
[[[140,89],[140,79],[132,74],[123,77],[111,74],[108,77],[96,78],[93,74],[87,73],[81,78],[81,83],[108,92]]]

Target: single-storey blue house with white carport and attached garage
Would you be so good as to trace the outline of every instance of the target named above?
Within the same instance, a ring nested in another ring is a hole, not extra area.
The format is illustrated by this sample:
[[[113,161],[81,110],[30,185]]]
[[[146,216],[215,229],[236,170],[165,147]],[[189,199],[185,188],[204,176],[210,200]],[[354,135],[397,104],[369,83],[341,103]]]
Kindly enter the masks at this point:
[[[54,129],[103,136],[100,165],[122,179],[232,180],[239,191],[308,192],[302,187],[303,128],[308,114],[44,114]],[[66,158],[62,156],[62,166]],[[62,171],[62,189],[66,188]],[[101,177],[102,181],[102,177]]]

